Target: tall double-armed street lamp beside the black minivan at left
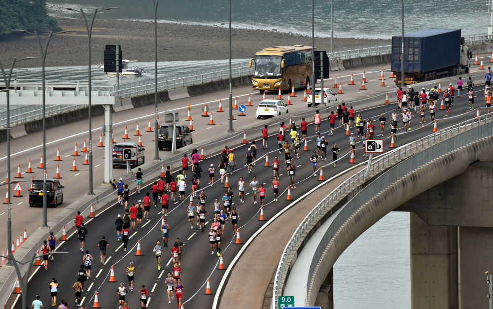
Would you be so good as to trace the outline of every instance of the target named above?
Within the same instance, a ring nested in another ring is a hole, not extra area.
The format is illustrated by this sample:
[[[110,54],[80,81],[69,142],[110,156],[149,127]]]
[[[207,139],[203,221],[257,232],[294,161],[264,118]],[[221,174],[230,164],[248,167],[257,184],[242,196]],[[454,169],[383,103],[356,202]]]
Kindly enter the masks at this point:
[[[46,103],[45,103],[45,95],[46,95],[46,85],[44,82],[44,65],[46,63],[46,53],[48,52],[48,45],[50,44],[51,37],[56,34],[65,34],[68,32],[73,32],[73,31],[60,31],[60,32],[55,32],[50,31],[50,33],[46,36],[39,36],[37,32],[35,31],[34,33],[26,31],[26,30],[17,30],[13,29],[12,31],[15,32],[22,32],[25,34],[31,34],[35,35],[37,42],[39,44],[39,51],[41,52],[41,82],[42,82],[42,110],[43,110],[43,225],[42,227],[48,227],[48,206],[47,206],[47,200],[46,200],[46,191],[48,190],[48,185],[46,184]],[[45,40],[46,42],[44,44],[41,44],[41,40]],[[9,179],[10,180],[10,179]]]

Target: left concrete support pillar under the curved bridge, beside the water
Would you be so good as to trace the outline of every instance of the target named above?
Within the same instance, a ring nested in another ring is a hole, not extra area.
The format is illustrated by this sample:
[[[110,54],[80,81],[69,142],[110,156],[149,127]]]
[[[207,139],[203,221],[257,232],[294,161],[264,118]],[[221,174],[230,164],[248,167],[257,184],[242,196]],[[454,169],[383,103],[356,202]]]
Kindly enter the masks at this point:
[[[428,225],[411,212],[410,229],[411,308],[458,308],[457,227]]]

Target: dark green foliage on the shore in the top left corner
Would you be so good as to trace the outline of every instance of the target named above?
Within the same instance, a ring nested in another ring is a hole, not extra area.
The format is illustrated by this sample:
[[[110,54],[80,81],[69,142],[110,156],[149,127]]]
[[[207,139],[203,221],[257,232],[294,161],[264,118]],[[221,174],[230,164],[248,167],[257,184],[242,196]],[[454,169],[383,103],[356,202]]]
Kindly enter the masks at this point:
[[[46,0],[0,0],[0,34],[9,34],[11,29],[60,30],[46,13]]]

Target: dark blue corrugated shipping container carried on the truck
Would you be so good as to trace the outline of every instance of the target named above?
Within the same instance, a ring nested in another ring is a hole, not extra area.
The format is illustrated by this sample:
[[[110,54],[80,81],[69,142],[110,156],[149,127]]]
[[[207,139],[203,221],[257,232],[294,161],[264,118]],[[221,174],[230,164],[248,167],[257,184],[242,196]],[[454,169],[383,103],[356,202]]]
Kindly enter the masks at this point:
[[[392,36],[392,65],[401,71],[401,36]],[[460,63],[460,29],[428,29],[404,34],[404,71],[424,73]]]

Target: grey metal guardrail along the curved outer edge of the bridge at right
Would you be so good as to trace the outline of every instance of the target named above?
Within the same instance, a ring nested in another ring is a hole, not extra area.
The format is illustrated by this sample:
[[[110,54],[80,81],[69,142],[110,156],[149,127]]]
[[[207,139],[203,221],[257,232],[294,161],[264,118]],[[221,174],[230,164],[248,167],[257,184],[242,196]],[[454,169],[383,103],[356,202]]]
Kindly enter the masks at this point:
[[[298,226],[293,236],[286,244],[284,251],[282,252],[279,266],[274,275],[274,287],[272,297],[272,308],[278,309],[277,300],[280,293],[282,293],[284,282],[287,275],[286,266],[290,264],[290,261],[296,254],[298,247],[305,236],[312,229],[315,223],[324,216],[331,208],[339,203],[343,198],[362,184],[363,180],[368,180],[375,176],[378,178],[372,180],[372,182],[360,191],[356,196],[349,200],[337,214],[332,221],[327,232],[323,236],[322,241],[318,244],[315,255],[310,265],[310,271],[307,274],[309,280],[306,286],[307,302],[306,306],[310,305],[310,289],[312,288],[312,280],[317,264],[320,261],[325,249],[332,241],[337,231],[343,226],[343,224],[357,211],[361,205],[364,205],[372,197],[374,197],[383,188],[386,188],[388,184],[393,183],[403,174],[413,171],[426,163],[438,158],[441,155],[445,155],[452,152],[459,147],[465,146],[468,143],[477,141],[479,139],[490,137],[493,135],[493,113],[489,113],[479,118],[474,118],[453,125],[446,129],[442,129],[434,134],[420,138],[416,141],[408,143],[400,148],[388,152],[381,156],[378,160],[372,162],[370,166],[370,173],[365,175],[365,169],[356,172],[336,189],[330,192],[325,199],[315,206],[312,211],[303,219]],[[486,125],[488,124],[488,125]],[[419,156],[413,156],[417,152],[420,152]],[[412,158],[412,159],[411,159]],[[400,165],[402,163],[402,165]],[[384,174],[380,174],[381,171],[390,167],[400,166],[402,168],[389,169]],[[365,193],[363,191],[367,190]]]

